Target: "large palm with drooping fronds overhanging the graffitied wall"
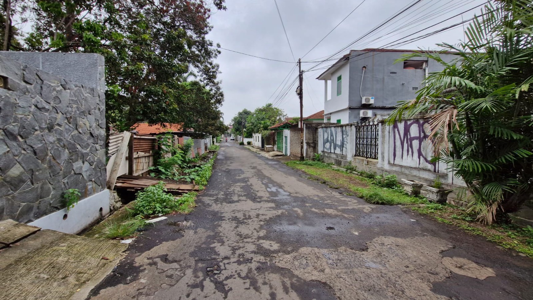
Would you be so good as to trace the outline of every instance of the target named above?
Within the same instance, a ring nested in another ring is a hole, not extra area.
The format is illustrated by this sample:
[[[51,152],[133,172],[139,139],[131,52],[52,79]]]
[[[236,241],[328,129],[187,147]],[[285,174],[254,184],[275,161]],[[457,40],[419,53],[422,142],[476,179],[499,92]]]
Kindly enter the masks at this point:
[[[472,193],[470,209],[491,223],[518,209],[533,185],[533,5],[530,0],[488,4],[467,28],[447,63],[419,52],[443,71],[425,80],[413,101],[402,103],[389,123],[428,113],[435,159],[462,177]]]

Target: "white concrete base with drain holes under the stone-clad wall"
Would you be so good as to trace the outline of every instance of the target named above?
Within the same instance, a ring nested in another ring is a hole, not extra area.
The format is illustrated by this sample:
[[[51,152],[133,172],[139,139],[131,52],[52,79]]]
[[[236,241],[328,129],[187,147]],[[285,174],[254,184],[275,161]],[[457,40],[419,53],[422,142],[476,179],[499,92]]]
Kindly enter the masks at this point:
[[[101,209],[101,211],[100,211]],[[67,213],[63,208],[57,212],[46,215],[28,225],[38,226],[42,229],[51,229],[64,233],[76,234],[87,228],[102,216],[109,214],[109,190],[104,190],[90,197],[80,200]],[[66,216],[66,218],[64,218]]]

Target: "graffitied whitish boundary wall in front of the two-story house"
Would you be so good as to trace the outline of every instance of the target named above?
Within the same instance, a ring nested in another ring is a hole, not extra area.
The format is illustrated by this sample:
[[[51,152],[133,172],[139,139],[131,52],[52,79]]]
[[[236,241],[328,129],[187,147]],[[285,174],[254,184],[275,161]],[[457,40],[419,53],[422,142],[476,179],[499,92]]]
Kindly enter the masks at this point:
[[[374,172],[387,172],[398,175],[399,179],[416,179],[426,183],[439,177],[450,187],[465,186],[446,164],[431,163],[433,146],[428,140],[427,119],[404,119],[393,126],[379,123],[377,160],[356,156],[355,126],[324,125],[318,128],[318,151],[326,163],[358,168],[368,166],[373,167]]]

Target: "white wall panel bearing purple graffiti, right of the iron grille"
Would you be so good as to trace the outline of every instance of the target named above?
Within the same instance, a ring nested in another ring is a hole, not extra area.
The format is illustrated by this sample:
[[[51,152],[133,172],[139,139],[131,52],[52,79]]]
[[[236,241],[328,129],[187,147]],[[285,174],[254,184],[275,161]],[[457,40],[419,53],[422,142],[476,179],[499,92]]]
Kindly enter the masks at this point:
[[[392,126],[392,163],[408,167],[439,172],[439,164],[431,162],[433,147],[429,141],[429,130],[424,127],[427,119],[396,122]]]

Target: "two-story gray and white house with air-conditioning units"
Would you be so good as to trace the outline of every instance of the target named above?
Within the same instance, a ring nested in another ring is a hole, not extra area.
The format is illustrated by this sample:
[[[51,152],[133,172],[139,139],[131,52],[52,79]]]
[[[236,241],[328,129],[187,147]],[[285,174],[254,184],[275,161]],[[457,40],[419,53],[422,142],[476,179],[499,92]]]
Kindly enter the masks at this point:
[[[415,50],[352,50],[317,79],[324,80],[324,122],[352,123],[391,112],[398,101],[416,98],[422,81],[443,68],[434,60],[412,58],[394,63]],[[451,61],[451,52],[440,53]],[[330,86],[331,97],[329,97]]]

